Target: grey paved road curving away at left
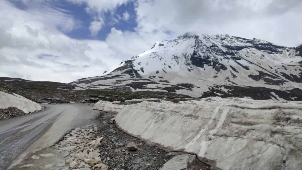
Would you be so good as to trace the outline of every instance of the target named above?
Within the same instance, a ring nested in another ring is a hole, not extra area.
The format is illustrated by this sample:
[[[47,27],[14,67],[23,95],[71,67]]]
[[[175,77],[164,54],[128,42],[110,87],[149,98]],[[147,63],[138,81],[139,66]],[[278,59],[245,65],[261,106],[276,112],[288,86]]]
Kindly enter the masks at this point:
[[[99,111],[84,104],[43,105],[47,109],[0,120],[0,169],[17,164],[30,152],[49,147],[75,127],[99,124]]]

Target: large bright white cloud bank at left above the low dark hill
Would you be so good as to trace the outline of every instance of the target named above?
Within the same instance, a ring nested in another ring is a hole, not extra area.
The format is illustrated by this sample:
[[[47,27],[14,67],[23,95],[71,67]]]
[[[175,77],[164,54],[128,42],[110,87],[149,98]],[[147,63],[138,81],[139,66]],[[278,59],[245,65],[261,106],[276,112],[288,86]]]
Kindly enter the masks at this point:
[[[101,75],[122,61],[104,41],[63,34],[62,18],[72,20],[69,15],[53,10],[33,15],[33,10],[0,1],[0,76],[69,83]]]

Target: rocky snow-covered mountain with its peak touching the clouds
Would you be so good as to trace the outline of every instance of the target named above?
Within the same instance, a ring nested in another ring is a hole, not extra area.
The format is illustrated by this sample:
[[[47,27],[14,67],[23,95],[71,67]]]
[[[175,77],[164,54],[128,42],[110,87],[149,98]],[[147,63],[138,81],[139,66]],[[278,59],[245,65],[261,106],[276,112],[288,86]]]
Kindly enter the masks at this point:
[[[227,34],[186,33],[156,42],[102,76],[71,84],[194,97],[302,100],[302,45],[284,47]]]

